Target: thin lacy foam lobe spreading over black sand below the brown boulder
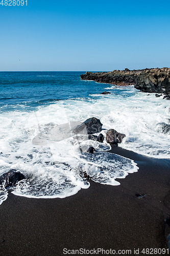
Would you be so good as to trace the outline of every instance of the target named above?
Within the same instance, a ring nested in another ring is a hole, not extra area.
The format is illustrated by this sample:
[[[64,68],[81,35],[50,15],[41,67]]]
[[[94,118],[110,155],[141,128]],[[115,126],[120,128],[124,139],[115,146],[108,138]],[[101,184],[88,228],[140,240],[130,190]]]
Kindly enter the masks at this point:
[[[72,154],[74,153],[72,152]],[[90,178],[101,184],[119,185],[120,183],[115,179],[125,178],[128,173],[138,170],[134,161],[108,152],[89,154],[79,153],[77,150],[75,157],[81,159],[82,169]]]

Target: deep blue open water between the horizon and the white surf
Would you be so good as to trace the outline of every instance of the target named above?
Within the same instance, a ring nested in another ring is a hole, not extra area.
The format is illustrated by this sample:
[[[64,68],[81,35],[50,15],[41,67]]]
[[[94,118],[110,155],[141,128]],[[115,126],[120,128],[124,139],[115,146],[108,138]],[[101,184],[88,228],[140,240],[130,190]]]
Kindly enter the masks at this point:
[[[85,72],[84,72],[85,73]],[[101,84],[82,82],[82,72],[0,72],[1,105],[38,106],[57,100],[88,98]]]

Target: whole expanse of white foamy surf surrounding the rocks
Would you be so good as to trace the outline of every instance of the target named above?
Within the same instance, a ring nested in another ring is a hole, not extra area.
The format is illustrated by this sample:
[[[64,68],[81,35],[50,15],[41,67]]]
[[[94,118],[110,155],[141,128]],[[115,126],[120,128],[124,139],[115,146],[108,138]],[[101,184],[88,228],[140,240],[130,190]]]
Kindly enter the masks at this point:
[[[110,149],[106,141],[48,140],[54,128],[57,130],[58,125],[70,121],[99,118],[105,129],[126,134],[120,144],[123,148],[146,156],[170,158],[170,134],[158,129],[159,123],[170,123],[169,101],[133,87],[118,90],[114,87],[107,97],[60,100],[38,106],[36,111],[20,105],[19,111],[2,112],[0,175],[14,168],[27,177],[18,183],[13,193],[27,197],[66,197],[88,188],[84,172],[96,182],[116,185],[116,178],[125,178],[137,170],[133,161],[104,153]],[[106,132],[102,131],[105,136]],[[46,138],[43,146],[32,143],[39,135]],[[81,153],[83,145],[93,146],[96,152]],[[0,190],[0,201],[5,200],[7,191],[3,187]]]

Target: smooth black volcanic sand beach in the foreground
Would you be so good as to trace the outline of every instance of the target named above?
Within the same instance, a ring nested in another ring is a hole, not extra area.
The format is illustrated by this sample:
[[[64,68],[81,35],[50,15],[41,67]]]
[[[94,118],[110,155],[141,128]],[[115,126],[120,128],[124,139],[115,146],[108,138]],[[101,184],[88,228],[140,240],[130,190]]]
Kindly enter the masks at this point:
[[[119,186],[90,181],[88,189],[64,199],[30,199],[10,193],[0,206],[0,255],[60,256],[64,248],[83,248],[87,253],[98,248],[116,253],[131,250],[131,255],[148,254],[141,253],[143,248],[165,248],[165,254],[148,255],[168,255],[170,161],[120,146],[113,146],[111,152],[133,159],[139,167],[137,173],[117,179]],[[134,253],[138,248],[139,253]]]

